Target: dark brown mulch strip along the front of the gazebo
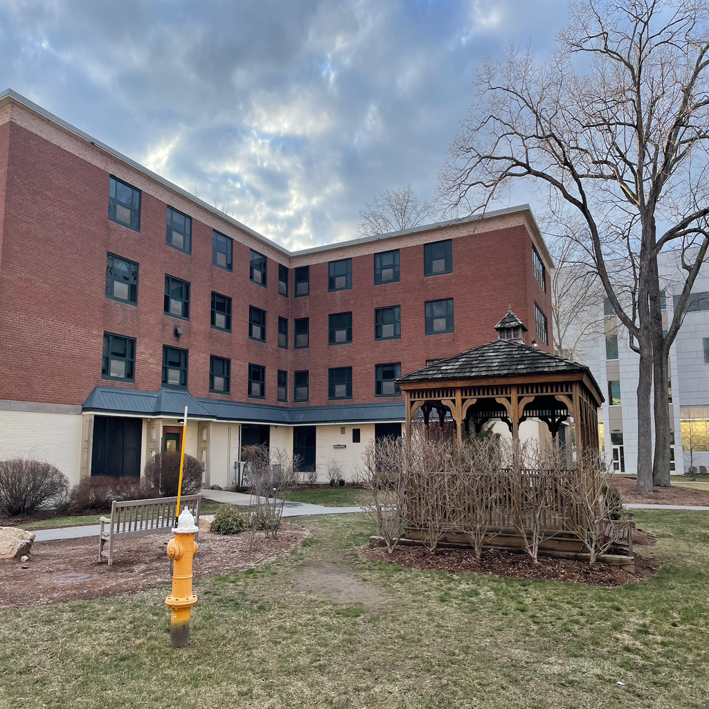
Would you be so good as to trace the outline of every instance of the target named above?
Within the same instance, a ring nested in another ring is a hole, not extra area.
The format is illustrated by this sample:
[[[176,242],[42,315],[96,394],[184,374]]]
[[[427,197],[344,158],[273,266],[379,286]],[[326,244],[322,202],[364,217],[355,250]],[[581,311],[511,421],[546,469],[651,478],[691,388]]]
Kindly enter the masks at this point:
[[[659,564],[635,554],[635,574],[609,564],[574,562],[571,559],[539,557],[534,564],[527,554],[516,554],[501,549],[486,549],[478,562],[471,549],[436,549],[427,552],[423,547],[397,547],[387,554],[384,547],[363,547],[362,558],[368,561],[388,562],[421,571],[445,571],[447,574],[474,572],[488,576],[505,576],[511,579],[533,581],[565,581],[591,586],[624,586],[643,581],[657,574]]]

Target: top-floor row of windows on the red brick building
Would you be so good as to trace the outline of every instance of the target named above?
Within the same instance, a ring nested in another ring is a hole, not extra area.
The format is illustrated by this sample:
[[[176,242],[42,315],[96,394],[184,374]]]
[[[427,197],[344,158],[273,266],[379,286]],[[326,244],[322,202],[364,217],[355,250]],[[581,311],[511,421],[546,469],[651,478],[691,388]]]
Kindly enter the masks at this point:
[[[140,190],[111,176],[108,193],[108,218],[140,231]],[[167,207],[167,229],[165,240],[167,245],[184,251],[192,252],[192,218],[186,214]],[[267,287],[268,259],[263,254],[251,250],[249,277],[264,288]],[[233,239],[212,230],[212,264],[233,271]],[[137,264],[134,264],[137,266]],[[535,278],[547,292],[547,271],[537,249],[532,245],[532,266]],[[450,239],[437,241],[423,246],[423,274],[437,276],[453,271],[453,242]],[[137,274],[137,267],[136,267]],[[401,278],[399,250],[384,251],[374,254],[374,284],[395,283]],[[352,259],[331,261],[328,266],[328,290],[344,291],[352,288]],[[288,297],[289,269],[279,264],[278,292]],[[295,296],[310,294],[310,267],[295,269]]]

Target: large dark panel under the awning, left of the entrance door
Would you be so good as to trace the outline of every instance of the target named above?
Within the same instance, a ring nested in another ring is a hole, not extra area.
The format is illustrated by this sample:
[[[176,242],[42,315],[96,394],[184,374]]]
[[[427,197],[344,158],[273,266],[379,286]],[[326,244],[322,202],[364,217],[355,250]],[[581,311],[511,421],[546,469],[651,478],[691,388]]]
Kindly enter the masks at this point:
[[[143,419],[94,416],[91,476],[140,477]]]

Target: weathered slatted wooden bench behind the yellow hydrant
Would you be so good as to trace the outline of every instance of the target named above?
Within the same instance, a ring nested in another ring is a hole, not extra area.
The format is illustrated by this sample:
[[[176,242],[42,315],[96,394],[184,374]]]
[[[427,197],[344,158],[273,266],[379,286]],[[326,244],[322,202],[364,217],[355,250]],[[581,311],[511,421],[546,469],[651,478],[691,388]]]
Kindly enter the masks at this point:
[[[199,527],[201,500],[201,495],[184,495],[180,498],[180,506],[183,510],[186,507],[192,513],[197,527]],[[108,566],[113,566],[113,542],[116,539],[142,537],[172,530],[176,512],[177,497],[159,497],[152,500],[127,502],[114,500],[111,505],[111,517],[101,518],[99,563],[108,559]],[[108,544],[108,551],[104,548],[106,544]]]

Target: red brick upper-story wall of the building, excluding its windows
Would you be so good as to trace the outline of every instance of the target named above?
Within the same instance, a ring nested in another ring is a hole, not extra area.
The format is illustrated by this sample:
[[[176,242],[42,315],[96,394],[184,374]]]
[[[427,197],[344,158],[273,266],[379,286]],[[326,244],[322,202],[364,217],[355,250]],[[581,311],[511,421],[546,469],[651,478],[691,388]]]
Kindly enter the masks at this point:
[[[9,137],[0,262],[0,398],[78,404],[96,384],[156,391],[162,345],[174,345],[189,350],[188,389],[194,396],[246,401],[252,362],[267,369],[265,403],[277,404],[277,369],[289,372],[291,401],[293,372],[309,369],[308,405],[325,404],[328,368],[352,366],[353,399],[345,403],[364,403],[376,401],[376,364],[401,362],[406,373],[426,359],[489,342],[508,306],[529,328],[527,342],[534,336],[535,299],[551,316],[550,295],[532,272],[532,236],[521,214],[291,259],[130,165],[101,157],[98,148],[91,152],[74,145],[77,139],[71,143],[49,124],[35,125],[37,119],[30,121],[26,111],[20,115],[22,121],[0,125],[0,164],[4,135]],[[108,220],[109,172],[143,189],[140,233]],[[0,172],[0,187],[1,179]],[[191,255],[165,243],[167,203],[193,217]],[[235,238],[233,273],[212,265],[212,228]],[[423,243],[451,237],[453,273],[423,277]],[[250,246],[269,256],[267,289],[249,279]],[[374,252],[396,247],[401,281],[374,286]],[[353,288],[328,293],[328,260],[342,258],[345,250],[352,253]],[[105,297],[106,252],[140,264],[137,307]],[[277,259],[291,268],[305,259],[311,263],[311,296],[292,297],[292,269],[291,297],[279,296]],[[191,283],[189,322],[164,315],[165,274]],[[211,291],[233,298],[232,333],[210,327]],[[425,301],[450,297],[454,333],[425,335]],[[248,338],[250,305],[267,311],[265,344]],[[376,342],[374,308],[392,305],[401,306],[401,340]],[[328,314],[343,311],[353,313],[353,342],[330,347]],[[278,316],[289,318],[289,350],[277,347]],[[293,350],[293,320],[301,317],[311,319],[311,346]],[[179,341],[175,325],[184,331]],[[135,337],[135,384],[101,380],[104,332]],[[210,354],[231,359],[230,396],[208,393]]]

